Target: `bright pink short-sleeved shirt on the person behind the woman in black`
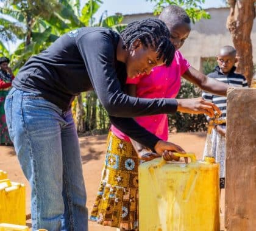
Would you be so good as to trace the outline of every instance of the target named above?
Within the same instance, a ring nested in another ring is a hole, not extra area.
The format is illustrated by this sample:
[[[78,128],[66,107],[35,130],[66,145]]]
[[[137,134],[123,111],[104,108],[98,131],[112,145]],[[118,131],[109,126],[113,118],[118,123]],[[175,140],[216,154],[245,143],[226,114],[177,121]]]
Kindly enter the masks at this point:
[[[171,66],[155,67],[151,74],[127,78],[126,83],[137,84],[137,97],[140,98],[175,98],[180,89],[181,76],[189,67],[188,61],[177,50]],[[166,114],[136,117],[135,120],[160,139],[168,139],[168,117]],[[110,129],[120,139],[130,140],[115,126],[112,125]]]

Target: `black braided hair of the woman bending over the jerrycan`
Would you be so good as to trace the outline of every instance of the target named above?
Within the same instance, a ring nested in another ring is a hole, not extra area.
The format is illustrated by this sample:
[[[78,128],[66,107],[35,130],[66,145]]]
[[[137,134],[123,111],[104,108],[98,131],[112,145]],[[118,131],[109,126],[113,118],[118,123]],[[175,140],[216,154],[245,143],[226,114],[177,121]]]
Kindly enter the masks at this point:
[[[124,49],[130,49],[136,40],[140,40],[145,47],[155,49],[158,53],[157,60],[163,58],[166,66],[169,66],[174,58],[175,48],[169,41],[169,30],[159,19],[148,18],[131,22],[121,32],[121,38]]]

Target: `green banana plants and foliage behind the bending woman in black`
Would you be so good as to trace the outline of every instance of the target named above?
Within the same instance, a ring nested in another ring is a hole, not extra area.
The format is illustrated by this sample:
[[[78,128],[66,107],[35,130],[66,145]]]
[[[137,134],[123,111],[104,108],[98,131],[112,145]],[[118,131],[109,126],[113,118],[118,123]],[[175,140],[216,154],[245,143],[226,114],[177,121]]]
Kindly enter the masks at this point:
[[[0,0],[1,1],[1,0]],[[79,0],[7,0],[4,7],[0,8],[0,43],[2,55],[10,57],[8,49],[2,41],[23,40],[15,52],[11,55],[11,64],[17,72],[27,59],[34,54],[46,49],[60,35],[82,26],[111,27],[121,30],[125,25],[121,24],[122,15],[101,16],[99,22],[95,22],[94,13],[99,9],[101,0],[89,0],[80,11]],[[87,105],[86,107],[84,105]],[[100,116],[98,116],[98,110]],[[86,114],[85,114],[86,112]],[[99,105],[94,92],[79,95],[76,102],[76,121],[78,131],[98,128],[98,117],[102,128],[105,128],[107,120],[106,112]]]

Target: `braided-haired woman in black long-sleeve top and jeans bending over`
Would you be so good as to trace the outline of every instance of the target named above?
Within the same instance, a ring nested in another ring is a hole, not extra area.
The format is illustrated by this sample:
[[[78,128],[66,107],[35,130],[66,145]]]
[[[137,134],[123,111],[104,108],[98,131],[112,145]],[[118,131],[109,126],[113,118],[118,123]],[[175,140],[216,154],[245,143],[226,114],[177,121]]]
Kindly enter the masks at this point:
[[[131,117],[183,112],[213,115],[202,99],[142,99],[123,93],[127,75],[171,63],[174,47],[158,19],[132,22],[118,35],[84,27],[66,33],[21,68],[5,102],[7,124],[32,188],[32,227],[87,230],[86,193],[71,102],[94,89],[111,122],[129,137],[162,154],[183,152]],[[48,190],[49,188],[49,190]]]

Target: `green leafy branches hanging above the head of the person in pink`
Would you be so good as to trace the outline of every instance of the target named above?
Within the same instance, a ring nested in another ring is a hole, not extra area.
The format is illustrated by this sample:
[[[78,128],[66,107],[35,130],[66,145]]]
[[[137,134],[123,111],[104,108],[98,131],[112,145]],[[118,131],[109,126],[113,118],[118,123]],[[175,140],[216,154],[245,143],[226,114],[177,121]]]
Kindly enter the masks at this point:
[[[205,0],[146,0],[155,2],[154,14],[159,15],[167,5],[179,5],[186,10],[188,16],[194,22],[202,18],[209,19],[210,15],[202,9]]]

